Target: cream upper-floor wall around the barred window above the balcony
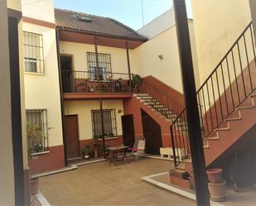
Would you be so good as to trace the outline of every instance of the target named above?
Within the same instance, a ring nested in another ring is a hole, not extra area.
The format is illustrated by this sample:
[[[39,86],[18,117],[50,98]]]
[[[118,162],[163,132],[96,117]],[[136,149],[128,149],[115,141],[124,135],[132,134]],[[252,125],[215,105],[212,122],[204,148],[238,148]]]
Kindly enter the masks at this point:
[[[74,70],[87,71],[88,67],[86,52],[94,51],[94,45],[60,41],[60,54],[74,55]],[[98,46],[98,52],[111,55],[112,72],[128,74],[128,64],[125,49],[109,46]]]

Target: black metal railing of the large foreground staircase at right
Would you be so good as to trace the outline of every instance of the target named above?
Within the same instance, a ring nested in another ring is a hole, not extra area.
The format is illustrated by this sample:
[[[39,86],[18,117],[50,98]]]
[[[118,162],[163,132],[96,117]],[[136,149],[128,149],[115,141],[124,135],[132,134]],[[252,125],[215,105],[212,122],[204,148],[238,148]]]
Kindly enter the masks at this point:
[[[254,92],[255,65],[253,24],[250,22],[196,93],[203,141],[215,136],[215,129],[225,127],[225,119]],[[179,165],[191,154],[185,109],[171,124],[171,141],[175,165]],[[186,150],[184,155],[177,152],[181,148]]]

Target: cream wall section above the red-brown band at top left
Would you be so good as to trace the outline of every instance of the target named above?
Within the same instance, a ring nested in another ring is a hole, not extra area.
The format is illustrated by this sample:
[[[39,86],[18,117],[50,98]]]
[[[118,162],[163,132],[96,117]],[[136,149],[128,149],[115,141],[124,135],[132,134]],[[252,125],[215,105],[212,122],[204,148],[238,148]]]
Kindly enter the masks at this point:
[[[31,17],[45,22],[55,22],[53,0],[22,0],[24,17]]]

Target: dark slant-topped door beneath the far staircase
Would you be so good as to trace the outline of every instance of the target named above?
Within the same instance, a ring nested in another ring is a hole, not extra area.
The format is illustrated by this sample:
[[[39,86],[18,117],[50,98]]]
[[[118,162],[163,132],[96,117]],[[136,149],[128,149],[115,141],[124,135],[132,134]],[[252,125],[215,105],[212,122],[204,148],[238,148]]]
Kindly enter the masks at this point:
[[[162,147],[161,127],[144,110],[141,113],[143,136],[146,139],[145,151],[147,154],[159,155]]]

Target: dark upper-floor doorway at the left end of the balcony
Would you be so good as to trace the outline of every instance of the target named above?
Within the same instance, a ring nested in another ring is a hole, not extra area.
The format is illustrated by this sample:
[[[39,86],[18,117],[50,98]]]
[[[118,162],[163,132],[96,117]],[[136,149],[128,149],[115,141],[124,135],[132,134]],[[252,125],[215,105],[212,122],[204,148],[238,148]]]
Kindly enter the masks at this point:
[[[62,79],[63,93],[73,92],[73,56],[72,55],[60,55],[60,70]]]

